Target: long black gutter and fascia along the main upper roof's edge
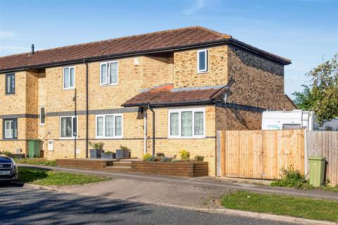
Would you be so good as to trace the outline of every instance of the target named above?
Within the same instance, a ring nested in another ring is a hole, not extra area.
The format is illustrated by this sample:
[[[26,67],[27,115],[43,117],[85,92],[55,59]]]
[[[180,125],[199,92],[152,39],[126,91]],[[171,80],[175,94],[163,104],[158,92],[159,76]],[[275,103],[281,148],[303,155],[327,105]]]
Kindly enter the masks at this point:
[[[245,44],[244,42],[238,41],[237,39],[229,38],[229,39],[221,39],[218,41],[207,41],[207,42],[204,42],[203,44],[190,44],[190,45],[183,45],[183,46],[181,45],[181,46],[167,47],[167,48],[161,48],[161,49],[156,49],[156,50],[152,49],[152,50],[146,50],[146,51],[131,51],[127,53],[110,54],[106,56],[93,56],[93,57],[81,58],[81,59],[76,59],[76,60],[59,61],[55,63],[45,63],[45,64],[40,64],[40,65],[27,65],[27,66],[22,66],[18,68],[0,70],[0,72],[15,72],[18,70],[39,69],[39,68],[47,68],[47,67],[58,66],[58,65],[76,64],[76,63],[82,63],[84,60],[87,62],[91,62],[91,61],[97,61],[97,60],[106,60],[110,58],[140,56],[140,55],[150,54],[150,53],[165,53],[165,52],[168,53],[168,52],[173,52],[173,51],[182,51],[186,49],[194,49],[194,48],[205,47],[205,46],[214,46],[218,44],[233,44],[239,48],[251,51],[252,53],[255,53],[259,56],[263,56],[265,58],[269,58],[270,60],[274,60],[275,62],[281,63],[282,65],[291,64],[291,60],[288,60],[287,58],[276,56],[273,53],[268,53],[267,51],[257,49],[256,47],[253,47],[249,44]],[[39,52],[37,51],[36,54],[39,54]]]

